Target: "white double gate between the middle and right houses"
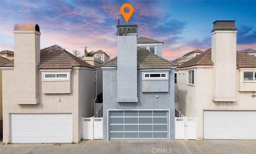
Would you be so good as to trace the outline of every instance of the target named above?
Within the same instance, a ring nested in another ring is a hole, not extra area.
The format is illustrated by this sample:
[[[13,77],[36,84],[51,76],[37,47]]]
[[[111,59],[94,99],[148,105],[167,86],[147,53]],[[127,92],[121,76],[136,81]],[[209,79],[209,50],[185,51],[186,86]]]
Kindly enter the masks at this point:
[[[175,117],[175,140],[196,140],[196,118]]]

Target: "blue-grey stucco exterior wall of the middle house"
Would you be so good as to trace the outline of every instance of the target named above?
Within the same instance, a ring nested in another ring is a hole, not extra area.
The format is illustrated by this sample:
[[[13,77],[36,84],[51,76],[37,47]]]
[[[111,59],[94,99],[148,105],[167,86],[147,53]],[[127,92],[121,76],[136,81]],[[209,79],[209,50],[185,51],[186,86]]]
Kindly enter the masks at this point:
[[[107,109],[170,109],[170,138],[174,139],[174,69],[169,72],[169,92],[142,92],[142,72],[137,70],[138,102],[118,103],[117,70],[103,70],[103,139],[107,139]],[[155,96],[159,97],[156,98]]]

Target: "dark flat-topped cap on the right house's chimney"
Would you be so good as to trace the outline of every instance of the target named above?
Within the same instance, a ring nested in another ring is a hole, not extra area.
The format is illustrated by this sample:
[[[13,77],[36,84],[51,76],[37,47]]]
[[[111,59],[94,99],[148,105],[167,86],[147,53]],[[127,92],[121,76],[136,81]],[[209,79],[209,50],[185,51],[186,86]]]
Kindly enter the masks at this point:
[[[236,20],[216,20],[213,22],[212,32],[214,31],[236,31]]]

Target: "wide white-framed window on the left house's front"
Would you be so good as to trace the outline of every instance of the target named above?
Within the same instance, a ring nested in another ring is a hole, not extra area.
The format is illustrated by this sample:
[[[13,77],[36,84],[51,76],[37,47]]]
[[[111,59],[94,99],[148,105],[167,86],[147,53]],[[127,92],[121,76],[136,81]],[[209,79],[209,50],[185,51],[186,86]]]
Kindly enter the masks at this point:
[[[69,81],[69,72],[43,72],[43,81]]]

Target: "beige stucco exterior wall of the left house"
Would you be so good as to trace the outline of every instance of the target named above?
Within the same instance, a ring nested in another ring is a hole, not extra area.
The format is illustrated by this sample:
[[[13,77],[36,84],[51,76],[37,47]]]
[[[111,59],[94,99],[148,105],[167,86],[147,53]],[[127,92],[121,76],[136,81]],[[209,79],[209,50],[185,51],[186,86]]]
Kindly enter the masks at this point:
[[[92,73],[94,70],[73,69],[70,73],[70,94],[43,94],[42,76],[39,75],[37,83],[39,104],[19,105],[14,103],[14,70],[13,68],[2,69],[4,143],[11,142],[9,138],[10,113],[72,113],[72,141],[80,141],[81,119],[82,117],[90,117],[94,112],[94,108],[91,106],[93,104],[92,99],[95,98],[95,90],[91,91],[92,86],[94,86],[94,73]],[[38,74],[40,73],[38,70]],[[78,82],[81,86],[78,86]],[[60,97],[60,102],[58,102],[58,97]]]

